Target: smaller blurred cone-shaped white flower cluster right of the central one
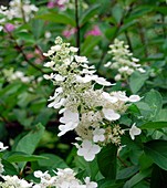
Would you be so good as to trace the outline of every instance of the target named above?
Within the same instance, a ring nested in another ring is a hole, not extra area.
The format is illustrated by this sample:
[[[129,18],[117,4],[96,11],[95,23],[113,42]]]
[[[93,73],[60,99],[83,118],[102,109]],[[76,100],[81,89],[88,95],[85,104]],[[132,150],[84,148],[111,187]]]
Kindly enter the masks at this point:
[[[107,62],[105,66],[117,70],[115,81],[127,80],[134,71],[146,72],[140,64],[137,64],[139,60],[133,56],[124,41],[115,39],[109,49],[108,53],[113,55],[113,62]]]

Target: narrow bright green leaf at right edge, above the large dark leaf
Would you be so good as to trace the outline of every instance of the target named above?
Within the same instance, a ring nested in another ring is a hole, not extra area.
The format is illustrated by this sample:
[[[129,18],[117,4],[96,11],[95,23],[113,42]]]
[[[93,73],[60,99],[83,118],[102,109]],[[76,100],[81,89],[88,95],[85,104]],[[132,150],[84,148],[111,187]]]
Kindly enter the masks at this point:
[[[167,122],[148,122],[142,126],[140,129],[159,129],[159,128],[167,128]]]

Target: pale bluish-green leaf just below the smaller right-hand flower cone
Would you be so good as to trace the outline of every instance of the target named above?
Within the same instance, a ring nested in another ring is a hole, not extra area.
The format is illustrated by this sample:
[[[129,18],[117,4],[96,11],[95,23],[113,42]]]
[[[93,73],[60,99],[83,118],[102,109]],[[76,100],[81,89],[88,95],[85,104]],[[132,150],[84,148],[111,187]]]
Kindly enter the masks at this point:
[[[137,93],[145,84],[145,81],[147,79],[148,79],[148,74],[139,73],[138,71],[134,72],[129,77],[129,87],[132,92]]]

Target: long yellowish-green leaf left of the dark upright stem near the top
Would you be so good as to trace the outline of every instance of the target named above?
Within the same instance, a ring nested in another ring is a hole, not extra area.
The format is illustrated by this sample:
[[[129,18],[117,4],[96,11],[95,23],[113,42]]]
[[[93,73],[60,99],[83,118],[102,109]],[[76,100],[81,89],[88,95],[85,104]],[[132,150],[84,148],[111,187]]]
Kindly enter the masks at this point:
[[[45,21],[51,21],[55,23],[70,24],[75,27],[75,21],[65,13],[50,12],[41,15],[36,15],[36,19],[42,19]]]

